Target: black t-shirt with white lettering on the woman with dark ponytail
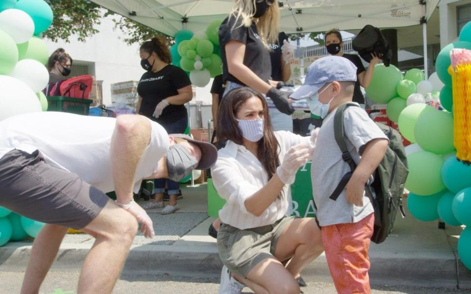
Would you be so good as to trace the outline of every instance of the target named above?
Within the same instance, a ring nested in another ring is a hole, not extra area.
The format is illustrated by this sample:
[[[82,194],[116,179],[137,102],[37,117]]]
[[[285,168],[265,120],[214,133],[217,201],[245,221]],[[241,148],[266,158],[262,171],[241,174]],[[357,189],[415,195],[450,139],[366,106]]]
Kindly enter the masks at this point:
[[[139,113],[159,123],[170,123],[179,120],[186,114],[184,105],[165,107],[162,114],[155,118],[152,116],[157,104],[163,99],[178,95],[179,89],[191,85],[190,79],[183,71],[173,65],[167,65],[157,72],[146,71],[137,85],[137,93],[142,97]]]

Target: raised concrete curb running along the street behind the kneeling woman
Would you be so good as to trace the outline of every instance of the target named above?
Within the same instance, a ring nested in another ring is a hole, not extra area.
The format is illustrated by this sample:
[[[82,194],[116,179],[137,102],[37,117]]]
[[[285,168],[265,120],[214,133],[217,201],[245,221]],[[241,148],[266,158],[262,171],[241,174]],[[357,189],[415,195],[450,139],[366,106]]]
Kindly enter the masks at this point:
[[[52,271],[78,271],[91,244],[62,244]],[[0,248],[0,271],[24,271],[31,246],[10,243]],[[471,273],[459,266],[445,251],[373,251],[370,254],[372,284],[388,286],[443,287],[471,289]],[[460,264],[460,263],[459,263]],[[221,261],[215,246],[134,245],[123,273],[187,277],[218,277]],[[325,256],[321,255],[304,271],[310,281],[331,282]]]

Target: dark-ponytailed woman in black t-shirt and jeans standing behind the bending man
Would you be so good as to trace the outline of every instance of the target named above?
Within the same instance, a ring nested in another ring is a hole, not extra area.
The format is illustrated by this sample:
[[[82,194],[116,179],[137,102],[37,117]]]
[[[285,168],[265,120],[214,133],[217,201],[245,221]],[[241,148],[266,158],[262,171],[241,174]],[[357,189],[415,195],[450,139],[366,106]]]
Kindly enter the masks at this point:
[[[144,42],[139,54],[141,66],[147,70],[137,85],[139,99],[136,110],[159,123],[168,134],[183,134],[188,125],[184,104],[193,98],[191,82],[183,69],[171,65],[170,50],[161,37]],[[163,193],[167,184],[169,204],[164,207]],[[177,197],[180,184],[168,179],[154,181],[155,198],[144,209],[163,208],[169,214],[180,209]]]

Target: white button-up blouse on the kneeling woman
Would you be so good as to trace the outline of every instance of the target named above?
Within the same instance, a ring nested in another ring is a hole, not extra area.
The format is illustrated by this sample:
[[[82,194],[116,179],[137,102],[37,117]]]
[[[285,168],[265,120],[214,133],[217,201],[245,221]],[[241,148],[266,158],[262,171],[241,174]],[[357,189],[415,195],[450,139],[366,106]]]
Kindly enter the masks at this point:
[[[285,153],[300,143],[307,143],[310,137],[294,135],[286,131],[275,132],[280,145],[279,159],[283,161]],[[282,197],[268,206],[261,216],[255,216],[245,208],[245,200],[260,190],[270,179],[262,163],[242,145],[228,141],[226,147],[218,152],[216,164],[211,168],[212,182],[219,196],[226,204],[219,210],[219,217],[225,224],[247,229],[266,226],[281,219],[288,211],[291,191],[288,185],[282,190]]]

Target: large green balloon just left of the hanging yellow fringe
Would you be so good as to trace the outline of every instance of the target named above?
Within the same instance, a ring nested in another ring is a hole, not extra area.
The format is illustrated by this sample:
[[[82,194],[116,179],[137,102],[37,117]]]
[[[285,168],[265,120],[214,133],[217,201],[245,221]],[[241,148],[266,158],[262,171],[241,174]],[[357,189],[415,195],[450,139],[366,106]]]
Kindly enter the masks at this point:
[[[420,148],[435,154],[448,154],[453,146],[453,116],[433,110],[420,114],[414,127],[414,137]]]

